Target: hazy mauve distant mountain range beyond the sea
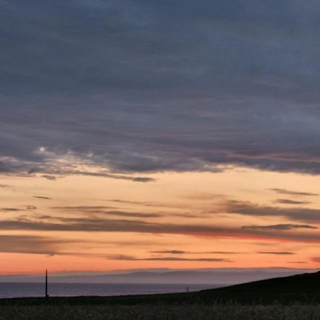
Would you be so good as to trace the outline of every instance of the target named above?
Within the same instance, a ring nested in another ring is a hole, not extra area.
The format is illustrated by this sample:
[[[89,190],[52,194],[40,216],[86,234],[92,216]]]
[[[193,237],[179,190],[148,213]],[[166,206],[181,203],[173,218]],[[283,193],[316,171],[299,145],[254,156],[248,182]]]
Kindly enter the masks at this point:
[[[316,272],[290,268],[220,268],[202,270],[129,270],[127,272],[49,272],[49,282],[124,284],[240,284]],[[0,282],[43,282],[44,274],[0,275]]]

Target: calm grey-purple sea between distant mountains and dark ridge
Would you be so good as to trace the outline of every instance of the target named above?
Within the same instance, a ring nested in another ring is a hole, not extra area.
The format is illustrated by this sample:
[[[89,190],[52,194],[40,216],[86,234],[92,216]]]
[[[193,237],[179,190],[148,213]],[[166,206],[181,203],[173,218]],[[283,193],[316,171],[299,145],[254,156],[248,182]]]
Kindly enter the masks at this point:
[[[214,284],[190,284],[189,291],[222,287]],[[187,284],[88,284],[88,283],[51,283],[50,296],[117,296],[126,294],[156,294],[186,292]],[[43,297],[43,283],[0,283],[0,298]]]

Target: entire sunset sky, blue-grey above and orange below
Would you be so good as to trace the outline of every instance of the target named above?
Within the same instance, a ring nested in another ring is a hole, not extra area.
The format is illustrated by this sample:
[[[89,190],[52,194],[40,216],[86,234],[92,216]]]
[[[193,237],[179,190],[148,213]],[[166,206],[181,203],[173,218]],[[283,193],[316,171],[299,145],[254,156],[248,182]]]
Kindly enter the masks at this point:
[[[0,0],[0,274],[319,268],[319,15]]]

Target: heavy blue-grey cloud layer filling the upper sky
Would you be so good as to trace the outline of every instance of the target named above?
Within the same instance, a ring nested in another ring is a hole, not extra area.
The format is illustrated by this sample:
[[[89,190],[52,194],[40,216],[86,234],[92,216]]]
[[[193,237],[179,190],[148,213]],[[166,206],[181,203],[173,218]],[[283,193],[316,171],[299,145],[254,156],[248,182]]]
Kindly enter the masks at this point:
[[[72,152],[114,172],[319,174],[319,16],[315,0],[0,0],[0,171],[58,174]]]

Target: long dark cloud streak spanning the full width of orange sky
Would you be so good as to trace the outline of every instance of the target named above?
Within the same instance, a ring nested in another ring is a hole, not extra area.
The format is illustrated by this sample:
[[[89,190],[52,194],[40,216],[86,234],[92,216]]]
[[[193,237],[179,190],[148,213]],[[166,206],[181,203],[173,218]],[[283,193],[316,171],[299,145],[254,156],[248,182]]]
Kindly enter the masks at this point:
[[[319,233],[287,232],[287,230],[264,230],[220,227],[215,225],[191,225],[173,223],[154,223],[143,220],[119,220],[111,218],[82,217],[62,218],[40,217],[28,219],[25,217],[16,220],[1,220],[0,230],[42,230],[42,231],[85,231],[85,232],[123,232],[123,233],[149,233],[167,235],[190,235],[206,238],[235,238],[235,239],[265,239],[289,240],[299,242],[320,242]]]

